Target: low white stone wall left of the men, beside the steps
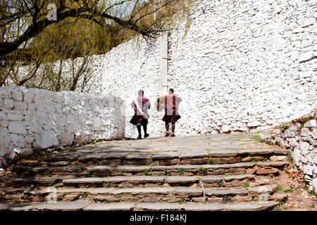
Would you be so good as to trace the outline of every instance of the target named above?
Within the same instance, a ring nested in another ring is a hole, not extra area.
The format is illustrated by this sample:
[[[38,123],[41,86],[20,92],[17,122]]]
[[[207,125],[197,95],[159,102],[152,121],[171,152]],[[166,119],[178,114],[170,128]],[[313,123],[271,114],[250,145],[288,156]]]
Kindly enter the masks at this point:
[[[33,149],[121,139],[124,102],[114,96],[0,88],[0,165]]]

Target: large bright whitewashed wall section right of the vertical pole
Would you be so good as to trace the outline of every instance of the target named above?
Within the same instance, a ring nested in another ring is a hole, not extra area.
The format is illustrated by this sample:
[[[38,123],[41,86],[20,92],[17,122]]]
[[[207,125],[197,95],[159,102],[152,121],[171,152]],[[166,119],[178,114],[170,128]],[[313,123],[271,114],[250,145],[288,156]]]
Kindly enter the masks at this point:
[[[315,109],[316,3],[200,1],[187,36],[170,37],[168,84],[193,102],[182,132],[266,129]]]

